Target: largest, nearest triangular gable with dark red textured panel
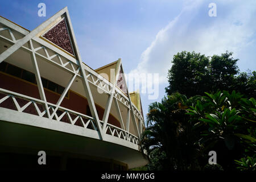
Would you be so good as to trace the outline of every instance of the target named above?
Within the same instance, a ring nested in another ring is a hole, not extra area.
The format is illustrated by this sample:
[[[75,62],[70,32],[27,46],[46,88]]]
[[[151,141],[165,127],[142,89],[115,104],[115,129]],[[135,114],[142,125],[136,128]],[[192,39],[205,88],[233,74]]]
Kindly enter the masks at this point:
[[[73,30],[67,13],[66,11],[57,17],[51,24],[44,28],[44,30],[39,32],[37,36],[75,57],[75,43],[72,37]]]

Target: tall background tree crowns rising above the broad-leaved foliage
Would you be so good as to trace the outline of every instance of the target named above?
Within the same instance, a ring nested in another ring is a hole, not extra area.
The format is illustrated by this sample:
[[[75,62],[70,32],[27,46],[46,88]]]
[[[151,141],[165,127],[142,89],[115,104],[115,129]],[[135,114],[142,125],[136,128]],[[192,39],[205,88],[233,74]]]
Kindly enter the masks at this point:
[[[236,90],[245,97],[256,97],[256,72],[239,72],[238,59],[232,52],[207,57],[200,53],[178,52],[168,71],[167,94],[179,92],[187,97],[214,93],[217,90]]]

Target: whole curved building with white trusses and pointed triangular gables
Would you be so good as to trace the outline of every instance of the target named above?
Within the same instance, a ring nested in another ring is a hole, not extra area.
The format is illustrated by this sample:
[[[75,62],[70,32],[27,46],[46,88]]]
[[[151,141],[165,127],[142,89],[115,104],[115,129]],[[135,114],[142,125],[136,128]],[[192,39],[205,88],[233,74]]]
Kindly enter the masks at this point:
[[[82,61],[67,7],[32,31],[0,16],[0,53],[0,168],[147,164],[139,94],[129,93],[121,59],[96,70]]]

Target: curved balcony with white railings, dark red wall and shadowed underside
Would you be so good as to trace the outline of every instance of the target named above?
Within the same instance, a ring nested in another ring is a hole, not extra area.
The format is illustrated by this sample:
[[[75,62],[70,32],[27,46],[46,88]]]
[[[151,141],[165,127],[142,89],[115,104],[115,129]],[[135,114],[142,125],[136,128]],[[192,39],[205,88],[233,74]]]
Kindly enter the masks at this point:
[[[58,14],[68,19],[67,9]],[[32,33],[0,17],[1,56]],[[114,159],[129,168],[147,163],[139,151],[143,116],[129,92],[79,56],[36,34],[0,63],[21,70],[0,69],[1,146]]]

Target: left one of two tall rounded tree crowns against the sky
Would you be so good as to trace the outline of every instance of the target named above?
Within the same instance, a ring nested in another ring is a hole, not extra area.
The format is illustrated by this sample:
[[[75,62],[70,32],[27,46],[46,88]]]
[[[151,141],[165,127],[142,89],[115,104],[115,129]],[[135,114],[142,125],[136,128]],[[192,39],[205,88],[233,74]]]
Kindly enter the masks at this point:
[[[209,90],[209,57],[200,53],[182,51],[174,55],[168,71],[167,94],[179,92],[188,97],[202,95]]]

